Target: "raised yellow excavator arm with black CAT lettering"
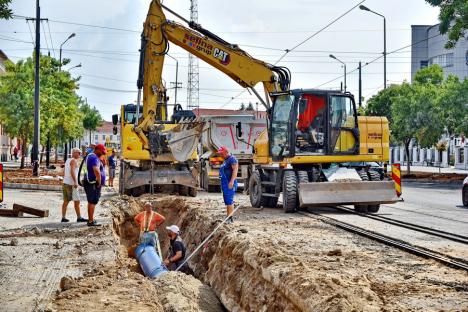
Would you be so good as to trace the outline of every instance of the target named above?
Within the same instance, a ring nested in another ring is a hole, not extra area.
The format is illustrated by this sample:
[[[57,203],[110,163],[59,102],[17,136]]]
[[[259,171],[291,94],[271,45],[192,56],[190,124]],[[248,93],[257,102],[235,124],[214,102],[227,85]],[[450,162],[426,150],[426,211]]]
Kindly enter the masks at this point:
[[[184,20],[190,28],[167,20],[163,8]],[[167,118],[166,90],[161,77],[169,42],[225,73],[240,86],[250,88],[267,107],[270,93],[289,90],[290,72],[287,68],[253,58],[238,46],[224,41],[198,24],[185,20],[162,5],[160,0],[153,0],[144,24],[140,58],[138,87],[143,88],[144,118]],[[260,82],[265,89],[266,101],[253,89]]]

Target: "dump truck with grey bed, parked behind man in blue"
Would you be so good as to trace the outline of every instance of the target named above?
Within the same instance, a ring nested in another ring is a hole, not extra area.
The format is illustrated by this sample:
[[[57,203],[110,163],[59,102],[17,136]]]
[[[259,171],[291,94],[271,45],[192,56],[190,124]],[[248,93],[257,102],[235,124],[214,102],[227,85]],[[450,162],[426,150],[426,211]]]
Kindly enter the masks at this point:
[[[200,149],[200,185],[208,192],[220,191],[219,167],[224,159],[217,155],[221,146],[239,161],[237,179],[240,187],[248,186],[248,168],[253,161],[253,143],[266,129],[265,119],[256,119],[254,115],[201,116],[204,122]],[[240,123],[242,136],[237,137],[236,127]]]

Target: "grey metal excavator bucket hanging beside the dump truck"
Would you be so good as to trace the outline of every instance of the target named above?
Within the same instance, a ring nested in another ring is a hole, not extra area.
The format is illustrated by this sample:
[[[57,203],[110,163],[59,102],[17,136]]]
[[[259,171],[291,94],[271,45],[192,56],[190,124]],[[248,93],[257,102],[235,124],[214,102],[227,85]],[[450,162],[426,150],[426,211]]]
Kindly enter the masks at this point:
[[[168,131],[168,145],[172,156],[179,162],[187,161],[195,152],[203,130],[203,122],[181,121]]]

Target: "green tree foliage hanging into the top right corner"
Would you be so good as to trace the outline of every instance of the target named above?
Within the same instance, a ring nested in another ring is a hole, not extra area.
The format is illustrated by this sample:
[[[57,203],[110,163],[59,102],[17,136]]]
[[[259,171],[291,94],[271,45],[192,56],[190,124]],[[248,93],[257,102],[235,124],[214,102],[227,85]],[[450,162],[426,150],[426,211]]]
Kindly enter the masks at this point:
[[[463,38],[468,29],[468,2],[466,0],[426,0],[432,6],[440,8],[439,30],[448,33],[445,47],[451,49]]]

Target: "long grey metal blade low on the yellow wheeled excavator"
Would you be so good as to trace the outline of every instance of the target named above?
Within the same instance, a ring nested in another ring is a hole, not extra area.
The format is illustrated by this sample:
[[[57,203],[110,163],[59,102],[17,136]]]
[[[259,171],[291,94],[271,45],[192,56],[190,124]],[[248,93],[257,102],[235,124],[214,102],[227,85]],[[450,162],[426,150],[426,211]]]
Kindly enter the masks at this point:
[[[398,201],[393,181],[314,182],[299,184],[299,205],[390,204]]]

